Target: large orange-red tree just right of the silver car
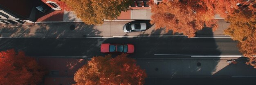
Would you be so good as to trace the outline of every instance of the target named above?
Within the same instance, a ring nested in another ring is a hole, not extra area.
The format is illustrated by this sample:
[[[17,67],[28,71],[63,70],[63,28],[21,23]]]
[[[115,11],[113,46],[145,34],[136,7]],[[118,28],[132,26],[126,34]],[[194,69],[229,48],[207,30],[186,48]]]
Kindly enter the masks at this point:
[[[195,32],[204,27],[217,29],[214,19],[214,7],[208,0],[163,0],[157,4],[151,3],[151,24],[156,28],[166,28],[186,36],[193,37]]]

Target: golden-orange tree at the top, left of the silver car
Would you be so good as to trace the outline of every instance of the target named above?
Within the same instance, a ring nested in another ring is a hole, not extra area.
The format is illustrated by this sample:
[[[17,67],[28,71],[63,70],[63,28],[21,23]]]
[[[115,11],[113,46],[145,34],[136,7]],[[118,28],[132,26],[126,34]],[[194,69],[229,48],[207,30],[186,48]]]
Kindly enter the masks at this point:
[[[132,0],[61,0],[85,24],[102,24],[103,20],[114,20],[121,11],[127,11]]]

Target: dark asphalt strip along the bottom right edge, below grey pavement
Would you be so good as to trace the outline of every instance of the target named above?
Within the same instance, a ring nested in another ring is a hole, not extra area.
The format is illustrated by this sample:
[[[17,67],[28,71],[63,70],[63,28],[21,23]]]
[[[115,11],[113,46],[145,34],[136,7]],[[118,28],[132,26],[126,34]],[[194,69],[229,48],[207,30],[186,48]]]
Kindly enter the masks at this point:
[[[146,78],[145,85],[256,85],[255,77]]]

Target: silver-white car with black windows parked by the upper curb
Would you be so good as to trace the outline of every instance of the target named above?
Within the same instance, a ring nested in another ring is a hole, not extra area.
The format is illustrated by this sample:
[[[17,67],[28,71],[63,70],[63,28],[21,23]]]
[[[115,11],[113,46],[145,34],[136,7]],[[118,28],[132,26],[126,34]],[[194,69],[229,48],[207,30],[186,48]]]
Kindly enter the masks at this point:
[[[146,30],[146,23],[126,23],[124,32],[138,32]]]

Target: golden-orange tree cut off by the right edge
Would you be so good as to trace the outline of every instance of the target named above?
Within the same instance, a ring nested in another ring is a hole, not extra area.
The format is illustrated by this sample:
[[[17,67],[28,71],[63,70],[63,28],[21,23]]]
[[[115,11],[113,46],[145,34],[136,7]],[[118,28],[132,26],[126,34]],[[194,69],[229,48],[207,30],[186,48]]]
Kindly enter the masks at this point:
[[[234,12],[227,15],[226,20],[230,26],[225,34],[230,35],[233,40],[238,40],[237,47],[244,56],[249,58],[246,64],[256,68],[256,1],[240,2]]]

